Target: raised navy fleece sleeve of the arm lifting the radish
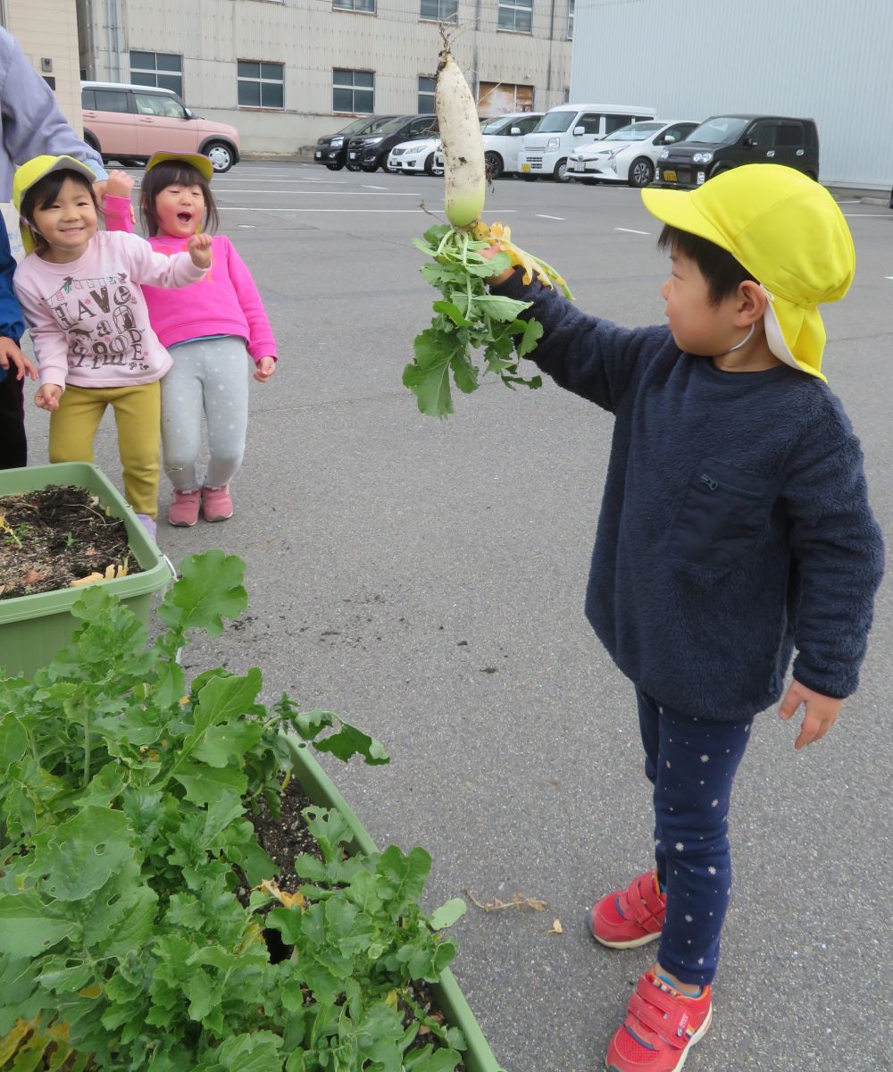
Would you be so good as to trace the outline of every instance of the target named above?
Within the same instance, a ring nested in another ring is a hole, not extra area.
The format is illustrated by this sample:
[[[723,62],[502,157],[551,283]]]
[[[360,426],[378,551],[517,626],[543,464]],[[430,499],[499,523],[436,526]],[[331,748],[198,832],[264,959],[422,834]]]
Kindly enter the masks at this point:
[[[517,269],[510,279],[491,291],[533,302],[521,319],[538,321],[542,337],[536,349],[527,355],[529,359],[561,387],[615,413],[648,357],[666,341],[664,329],[621,328],[610,321],[589,316],[564,295],[536,280],[525,286],[521,276]]]

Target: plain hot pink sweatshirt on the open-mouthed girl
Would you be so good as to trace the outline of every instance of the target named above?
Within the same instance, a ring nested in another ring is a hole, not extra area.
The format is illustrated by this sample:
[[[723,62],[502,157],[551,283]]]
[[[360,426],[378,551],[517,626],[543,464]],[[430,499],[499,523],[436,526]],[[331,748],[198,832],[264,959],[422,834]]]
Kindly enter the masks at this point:
[[[130,199],[106,197],[105,225],[110,230],[133,230]],[[154,235],[149,239],[158,253],[172,256],[187,248],[189,238]],[[251,272],[225,235],[214,235],[211,270],[200,284],[182,295],[146,287],[149,317],[165,346],[176,346],[209,336],[244,339],[255,362],[276,357],[276,339]]]

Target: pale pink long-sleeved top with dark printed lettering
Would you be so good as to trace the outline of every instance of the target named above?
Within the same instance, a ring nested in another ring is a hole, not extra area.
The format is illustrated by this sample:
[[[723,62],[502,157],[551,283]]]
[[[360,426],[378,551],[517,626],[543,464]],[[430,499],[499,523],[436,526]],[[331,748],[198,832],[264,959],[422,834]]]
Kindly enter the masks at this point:
[[[128,387],[160,379],[170,356],[149,325],[140,284],[187,286],[204,274],[188,253],[165,257],[137,235],[102,230],[64,265],[29,254],[13,285],[31,327],[41,383]]]

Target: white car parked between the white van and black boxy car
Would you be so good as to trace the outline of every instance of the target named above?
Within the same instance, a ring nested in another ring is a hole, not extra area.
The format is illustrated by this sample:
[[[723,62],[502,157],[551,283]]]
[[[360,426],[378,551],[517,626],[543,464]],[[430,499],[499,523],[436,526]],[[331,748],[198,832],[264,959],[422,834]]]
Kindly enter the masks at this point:
[[[646,187],[654,179],[654,165],[664,149],[684,140],[697,125],[683,119],[646,119],[621,126],[600,142],[575,149],[567,158],[567,177]]]

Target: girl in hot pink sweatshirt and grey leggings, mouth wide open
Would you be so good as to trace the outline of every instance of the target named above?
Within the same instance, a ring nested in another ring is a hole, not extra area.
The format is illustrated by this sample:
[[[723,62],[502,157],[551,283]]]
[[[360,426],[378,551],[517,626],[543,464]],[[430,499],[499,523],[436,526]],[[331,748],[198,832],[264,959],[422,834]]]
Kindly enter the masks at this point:
[[[151,158],[140,208],[153,250],[174,255],[217,226],[212,174],[207,157],[158,152]],[[109,195],[119,178],[128,180],[121,173],[109,177]],[[132,227],[126,193],[106,197],[110,228]],[[164,471],[174,485],[167,520],[194,525],[200,505],[206,521],[225,521],[233,516],[229,482],[241,465],[248,429],[245,352],[255,379],[265,383],[276,371],[276,340],[261,296],[229,239],[214,235],[211,270],[200,283],[176,295],[147,287],[146,302],[174,359],[161,385]],[[203,415],[210,457],[199,473]]]

